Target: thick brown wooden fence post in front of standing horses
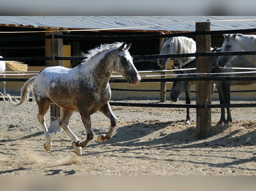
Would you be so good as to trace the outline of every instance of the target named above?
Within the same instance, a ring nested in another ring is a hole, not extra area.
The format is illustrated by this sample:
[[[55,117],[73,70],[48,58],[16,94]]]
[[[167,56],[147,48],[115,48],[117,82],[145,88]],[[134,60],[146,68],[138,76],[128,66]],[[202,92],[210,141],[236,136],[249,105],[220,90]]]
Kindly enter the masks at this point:
[[[196,23],[196,31],[210,31],[210,22]],[[211,35],[196,36],[197,52],[211,52]],[[211,73],[210,58],[207,56],[196,57],[196,72]],[[206,77],[205,74],[197,75],[198,77]],[[196,104],[211,104],[211,81],[196,81]],[[212,116],[211,108],[197,108],[197,136],[211,136]]]

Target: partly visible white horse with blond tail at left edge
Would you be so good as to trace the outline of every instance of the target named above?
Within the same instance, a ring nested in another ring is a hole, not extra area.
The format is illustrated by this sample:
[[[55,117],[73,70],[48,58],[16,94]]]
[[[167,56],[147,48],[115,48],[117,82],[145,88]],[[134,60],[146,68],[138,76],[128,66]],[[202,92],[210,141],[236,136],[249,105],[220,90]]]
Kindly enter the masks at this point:
[[[0,56],[0,58],[3,58]],[[16,71],[16,72],[26,72],[27,71],[27,65],[23,62],[18,61],[0,61],[0,74],[3,74],[6,71],[6,66],[8,66],[10,69]],[[5,74],[1,75],[0,78],[5,78]],[[3,82],[3,93],[6,95],[5,92],[5,85],[6,83]]]

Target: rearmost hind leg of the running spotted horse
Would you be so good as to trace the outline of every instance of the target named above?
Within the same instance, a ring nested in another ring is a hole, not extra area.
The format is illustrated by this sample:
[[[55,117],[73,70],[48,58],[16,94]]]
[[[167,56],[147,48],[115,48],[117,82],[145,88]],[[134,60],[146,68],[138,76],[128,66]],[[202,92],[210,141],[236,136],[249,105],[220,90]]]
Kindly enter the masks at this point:
[[[52,142],[51,142],[51,136],[46,127],[44,116],[45,116],[47,110],[49,109],[50,99],[40,99],[40,101],[37,101],[37,105],[38,105],[38,113],[37,113],[36,117],[43,128],[43,133],[44,133],[44,138],[45,138],[43,147],[45,150],[48,151],[48,150],[50,150],[50,148],[52,146]]]

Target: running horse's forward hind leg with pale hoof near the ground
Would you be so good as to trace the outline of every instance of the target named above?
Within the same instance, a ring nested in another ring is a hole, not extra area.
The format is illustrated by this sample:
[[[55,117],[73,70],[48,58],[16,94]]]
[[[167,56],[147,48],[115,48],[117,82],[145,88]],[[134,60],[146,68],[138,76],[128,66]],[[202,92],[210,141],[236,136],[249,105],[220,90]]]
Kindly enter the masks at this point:
[[[71,138],[73,143],[79,142],[79,139],[77,136],[70,130],[69,128],[69,120],[72,116],[74,111],[62,109],[62,114],[59,120],[59,126],[62,127],[62,129],[68,134],[68,136]],[[74,151],[77,155],[82,155],[82,147],[77,147],[76,145],[73,145]]]

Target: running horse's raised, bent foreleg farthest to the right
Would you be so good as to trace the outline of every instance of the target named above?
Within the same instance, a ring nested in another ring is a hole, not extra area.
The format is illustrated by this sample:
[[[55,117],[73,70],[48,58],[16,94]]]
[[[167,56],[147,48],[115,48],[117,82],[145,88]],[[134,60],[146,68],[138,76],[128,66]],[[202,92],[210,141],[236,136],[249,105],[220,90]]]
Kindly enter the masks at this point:
[[[101,107],[100,111],[102,113],[104,113],[110,119],[110,128],[108,130],[108,133],[105,136],[99,135],[98,138],[97,138],[97,140],[99,142],[105,142],[105,141],[107,141],[108,139],[110,139],[112,137],[114,127],[116,126],[117,118],[113,114],[112,109],[109,105],[109,102],[107,104],[105,104],[103,107]]]

